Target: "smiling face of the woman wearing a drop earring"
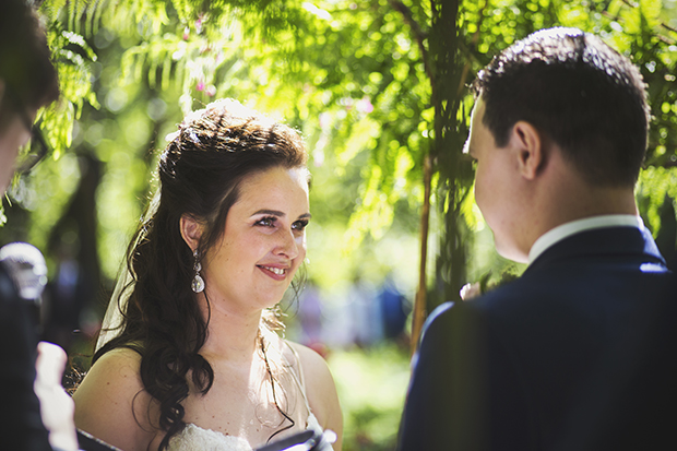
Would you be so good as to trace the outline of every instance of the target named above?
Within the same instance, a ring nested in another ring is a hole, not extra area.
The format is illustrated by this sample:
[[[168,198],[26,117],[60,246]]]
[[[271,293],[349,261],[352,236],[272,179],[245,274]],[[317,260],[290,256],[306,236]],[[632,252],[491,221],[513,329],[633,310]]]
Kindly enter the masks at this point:
[[[306,258],[307,174],[305,168],[276,167],[240,183],[223,237],[202,263],[214,306],[224,302],[245,312],[282,299]]]

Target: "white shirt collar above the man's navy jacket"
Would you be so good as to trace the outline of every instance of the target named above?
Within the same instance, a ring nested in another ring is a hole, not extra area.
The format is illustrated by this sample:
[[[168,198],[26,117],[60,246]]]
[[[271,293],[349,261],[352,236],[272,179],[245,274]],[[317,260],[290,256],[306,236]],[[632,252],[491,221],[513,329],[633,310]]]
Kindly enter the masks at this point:
[[[571,235],[584,230],[592,230],[594,228],[618,226],[637,227],[642,229],[644,228],[644,223],[640,216],[631,214],[608,214],[603,216],[586,217],[584,219],[572,221],[570,223],[559,225],[546,232],[536,241],[534,241],[534,245],[528,251],[528,264],[532,264],[532,262],[550,246],[567,237],[570,237]]]

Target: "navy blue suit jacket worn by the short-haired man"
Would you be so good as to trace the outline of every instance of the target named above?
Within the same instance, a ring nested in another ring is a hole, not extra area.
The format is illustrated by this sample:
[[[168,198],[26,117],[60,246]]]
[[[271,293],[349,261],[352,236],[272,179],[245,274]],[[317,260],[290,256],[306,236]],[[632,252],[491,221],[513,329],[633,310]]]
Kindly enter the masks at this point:
[[[571,442],[590,393],[615,368],[634,368],[636,343],[670,281],[646,230],[609,227],[557,242],[520,278],[477,299],[440,306],[414,364],[399,449]]]

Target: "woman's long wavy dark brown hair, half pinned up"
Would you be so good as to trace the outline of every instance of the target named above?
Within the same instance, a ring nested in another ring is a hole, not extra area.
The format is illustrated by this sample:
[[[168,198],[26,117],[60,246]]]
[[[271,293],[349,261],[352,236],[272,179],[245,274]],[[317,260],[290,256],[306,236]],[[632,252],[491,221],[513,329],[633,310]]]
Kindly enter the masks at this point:
[[[158,427],[166,431],[161,451],[186,426],[181,402],[189,393],[188,375],[202,394],[214,382],[210,363],[199,354],[209,317],[191,290],[194,259],[179,221],[187,214],[204,224],[202,256],[222,237],[244,179],[274,167],[305,167],[306,161],[296,131],[231,99],[188,116],[163,152],[158,192],[127,250],[131,294],[126,306],[122,295],[111,299],[121,309],[120,332],[93,357],[94,364],[118,347],[141,355],[141,380],[159,404]],[[262,327],[278,324],[275,310],[265,310]]]

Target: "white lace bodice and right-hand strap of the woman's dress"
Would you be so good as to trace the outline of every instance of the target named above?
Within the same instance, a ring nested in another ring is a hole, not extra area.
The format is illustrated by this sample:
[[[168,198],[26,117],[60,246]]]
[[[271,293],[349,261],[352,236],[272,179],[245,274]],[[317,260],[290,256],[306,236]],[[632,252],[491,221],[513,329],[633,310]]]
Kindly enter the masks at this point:
[[[290,346],[289,346],[290,347]],[[306,420],[306,430],[313,430],[322,432],[317,417],[310,411],[310,404],[308,403],[308,396],[306,395],[306,385],[304,381],[304,373],[301,363],[298,354],[294,348],[292,352],[297,361],[297,368],[299,375],[296,375],[289,367],[289,371],[308,411],[308,419]],[[261,446],[264,443],[261,443]],[[181,432],[177,434],[169,440],[167,451],[252,451],[251,444],[241,437],[225,435],[216,430],[204,429],[198,425],[189,423],[186,425]]]

